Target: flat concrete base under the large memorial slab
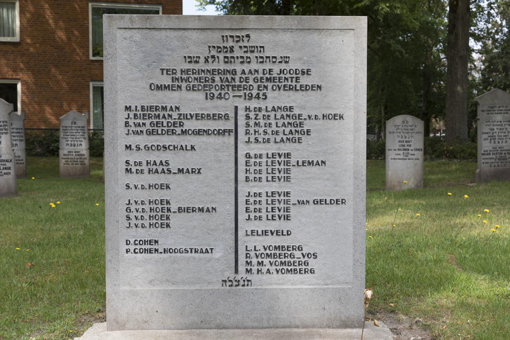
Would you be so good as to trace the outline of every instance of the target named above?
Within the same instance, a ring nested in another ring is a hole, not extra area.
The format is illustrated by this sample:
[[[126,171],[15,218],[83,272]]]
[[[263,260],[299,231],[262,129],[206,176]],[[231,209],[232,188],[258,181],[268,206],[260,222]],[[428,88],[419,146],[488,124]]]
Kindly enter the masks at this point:
[[[366,323],[364,340],[392,340],[385,325]],[[350,340],[360,339],[360,329],[193,329],[193,330],[126,330],[106,331],[106,322],[94,324],[80,340]]]

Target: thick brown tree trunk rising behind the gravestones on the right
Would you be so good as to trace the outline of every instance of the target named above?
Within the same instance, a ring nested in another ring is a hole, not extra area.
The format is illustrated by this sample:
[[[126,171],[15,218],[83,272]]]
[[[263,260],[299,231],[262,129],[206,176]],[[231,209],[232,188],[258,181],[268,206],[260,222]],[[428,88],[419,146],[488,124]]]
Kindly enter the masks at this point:
[[[446,142],[468,141],[469,0],[450,0],[447,33]]]

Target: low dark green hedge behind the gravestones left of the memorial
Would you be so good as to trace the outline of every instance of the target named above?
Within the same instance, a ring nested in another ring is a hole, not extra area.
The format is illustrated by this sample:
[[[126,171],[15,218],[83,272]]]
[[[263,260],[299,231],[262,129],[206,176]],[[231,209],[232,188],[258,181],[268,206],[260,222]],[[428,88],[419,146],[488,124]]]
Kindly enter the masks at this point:
[[[58,156],[59,130],[26,130],[25,142],[29,156]],[[102,157],[105,151],[103,132],[89,133],[89,151],[92,157]]]

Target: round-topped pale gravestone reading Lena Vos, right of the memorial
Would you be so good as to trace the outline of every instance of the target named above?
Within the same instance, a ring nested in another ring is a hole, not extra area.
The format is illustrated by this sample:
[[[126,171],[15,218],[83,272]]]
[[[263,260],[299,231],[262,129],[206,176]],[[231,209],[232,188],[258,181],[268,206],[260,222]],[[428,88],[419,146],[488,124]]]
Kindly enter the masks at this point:
[[[423,188],[423,121],[396,116],[386,122],[386,189],[415,188]]]

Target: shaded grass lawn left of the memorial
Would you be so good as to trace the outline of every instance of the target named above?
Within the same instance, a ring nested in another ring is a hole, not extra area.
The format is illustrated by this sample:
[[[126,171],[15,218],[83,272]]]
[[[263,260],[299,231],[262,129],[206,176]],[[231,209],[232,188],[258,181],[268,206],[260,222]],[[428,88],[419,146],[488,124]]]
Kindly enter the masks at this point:
[[[60,179],[57,157],[27,165],[0,198],[0,339],[74,338],[105,316],[103,159],[88,179]]]

